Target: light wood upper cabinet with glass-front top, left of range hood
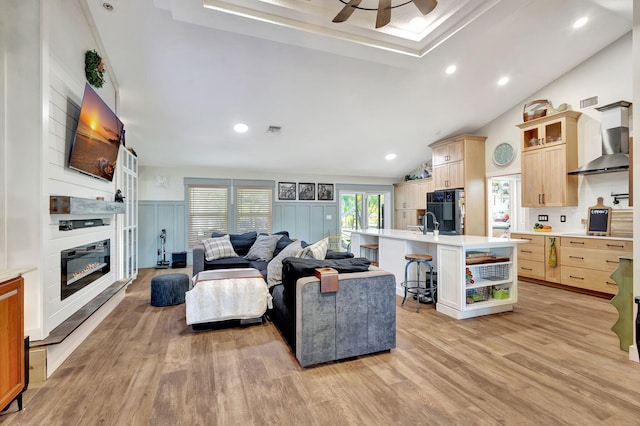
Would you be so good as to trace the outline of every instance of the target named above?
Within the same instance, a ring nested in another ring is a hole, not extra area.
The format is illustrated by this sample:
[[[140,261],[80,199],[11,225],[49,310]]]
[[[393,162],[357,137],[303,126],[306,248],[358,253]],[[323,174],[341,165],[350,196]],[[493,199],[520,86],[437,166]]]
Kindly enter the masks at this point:
[[[581,113],[565,111],[519,124],[522,147],[522,206],[578,205],[577,123]]]

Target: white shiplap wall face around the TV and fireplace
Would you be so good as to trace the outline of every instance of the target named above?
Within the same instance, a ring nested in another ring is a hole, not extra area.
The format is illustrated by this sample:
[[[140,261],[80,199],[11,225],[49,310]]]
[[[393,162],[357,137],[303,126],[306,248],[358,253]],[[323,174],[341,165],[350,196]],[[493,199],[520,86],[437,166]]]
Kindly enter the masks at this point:
[[[115,183],[80,174],[67,167],[69,148],[77,126],[79,107],[85,86],[84,55],[87,50],[99,50],[90,23],[79,1],[56,2],[43,14],[46,25],[45,52],[48,66],[44,68],[43,105],[45,108],[44,181],[41,212],[43,229],[43,299],[44,332],[48,334],[58,324],[76,312],[102,290],[116,281],[115,220],[113,215],[48,215],[50,195],[69,195],[82,198],[103,197],[113,200]],[[105,56],[103,52],[102,56]],[[115,110],[117,90],[109,74],[105,84],[96,89],[99,96]],[[109,226],[60,231],[60,219],[103,219]],[[90,286],[60,300],[60,252],[95,241],[111,240],[111,271]]]

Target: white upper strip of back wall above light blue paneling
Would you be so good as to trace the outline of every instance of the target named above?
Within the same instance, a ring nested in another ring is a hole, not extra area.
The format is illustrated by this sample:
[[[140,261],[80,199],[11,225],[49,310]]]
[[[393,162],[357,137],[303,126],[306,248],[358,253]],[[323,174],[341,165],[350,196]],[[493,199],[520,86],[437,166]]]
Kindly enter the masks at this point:
[[[248,153],[247,155],[251,155]],[[144,162],[144,159],[141,159]],[[242,169],[194,168],[194,167],[150,167],[141,166],[138,174],[138,191],[140,200],[176,201],[184,200],[184,178],[220,178],[220,179],[264,179],[276,182],[321,182],[321,183],[349,183],[349,184],[378,184],[390,185],[397,179],[352,177],[352,176],[322,176],[322,175],[293,175],[286,173],[286,164],[282,166],[282,173],[274,175],[259,171]],[[160,182],[166,182],[166,187]]]

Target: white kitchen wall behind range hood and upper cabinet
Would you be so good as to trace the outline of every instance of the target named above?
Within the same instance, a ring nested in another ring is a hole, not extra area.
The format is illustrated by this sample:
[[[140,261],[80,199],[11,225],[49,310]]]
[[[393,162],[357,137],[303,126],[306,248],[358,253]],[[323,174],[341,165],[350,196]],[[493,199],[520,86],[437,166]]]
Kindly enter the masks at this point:
[[[487,176],[520,173],[520,129],[516,125],[522,123],[524,103],[534,99],[548,99],[554,106],[568,103],[572,109],[582,112],[578,120],[578,164],[582,165],[599,157],[601,155],[601,113],[595,108],[619,100],[633,100],[631,38],[631,33],[628,33],[479,129],[476,134],[488,136],[485,159]],[[581,110],[580,100],[592,96],[598,96],[598,104]],[[507,167],[499,167],[493,163],[492,154],[494,148],[505,141],[514,146],[517,155]],[[527,229],[536,222],[538,214],[547,214],[550,219],[549,224],[558,232],[583,231],[584,226],[581,225],[580,220],[586,218],[587,208],[596,204],[597,197],[603,197],[605,205],[627,209],[626,200],[614,206],[610,194],[628,192],[628,178],[628,172],[579,176],[579,205],[565,208],[527,209],[529,217]],[[567,216],[566,223],[560,222],[560,215]]]

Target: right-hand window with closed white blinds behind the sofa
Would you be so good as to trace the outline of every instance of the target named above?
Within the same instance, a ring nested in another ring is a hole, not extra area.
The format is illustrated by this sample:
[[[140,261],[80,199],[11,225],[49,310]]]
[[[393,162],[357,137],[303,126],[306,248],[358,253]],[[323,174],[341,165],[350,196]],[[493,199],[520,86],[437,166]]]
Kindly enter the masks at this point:
[[[271,233],[273,188],[265,186],[236,187],[236,232]]]

